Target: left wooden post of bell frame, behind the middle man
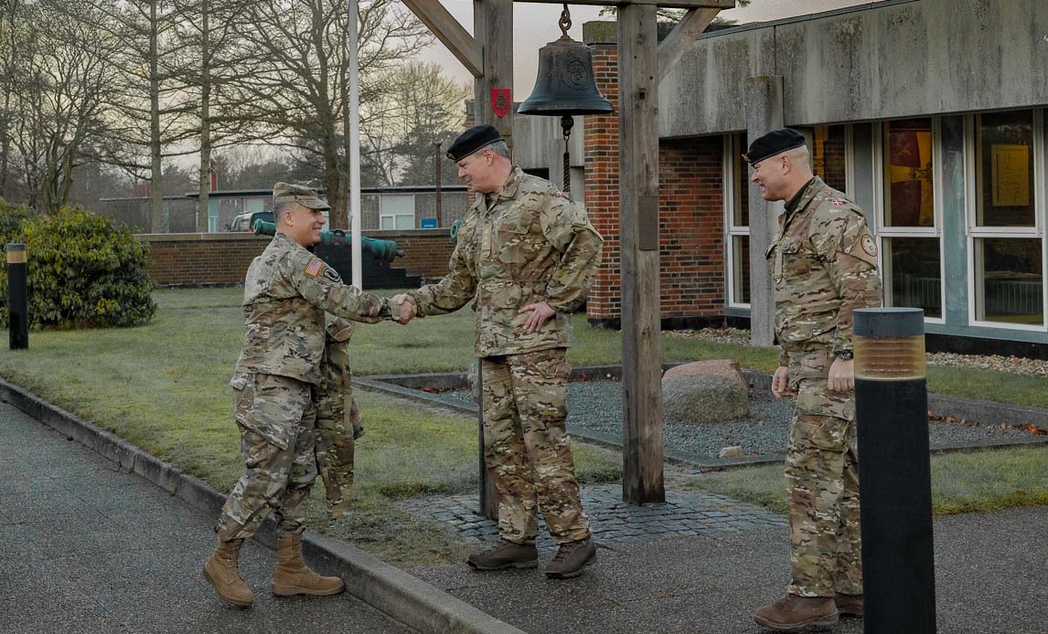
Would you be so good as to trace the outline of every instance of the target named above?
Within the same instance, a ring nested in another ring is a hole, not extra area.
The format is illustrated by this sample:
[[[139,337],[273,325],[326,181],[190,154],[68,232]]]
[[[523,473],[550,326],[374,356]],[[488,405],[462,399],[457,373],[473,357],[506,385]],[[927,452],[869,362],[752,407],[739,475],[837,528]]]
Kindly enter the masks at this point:
[[[484,74],[474,82],[474,124],[495,126],[512,149],[512,86],[514,86],[514,2],[512,0],[474,0],[473,32],[482,47]],[[508,88],[509,112],[498,116],[493,109],[492,89]],[[478,381],[482,381],[480,367]],[[483,383],[479,383],[483,385]],[[481,390],[483,391],[483,390]],[[480,513],[493,520],[499,518],[499,501],[484,465],[483,404],[480,423]]]

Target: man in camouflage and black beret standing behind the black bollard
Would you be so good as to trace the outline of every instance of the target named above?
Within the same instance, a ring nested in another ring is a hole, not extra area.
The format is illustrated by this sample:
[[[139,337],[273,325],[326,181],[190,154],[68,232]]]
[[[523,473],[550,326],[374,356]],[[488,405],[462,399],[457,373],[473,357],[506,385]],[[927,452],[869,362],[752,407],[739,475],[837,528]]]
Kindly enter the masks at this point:
[[[786,454],[787,596],[754,613],[776,630],[863,614],[852,311],[880,305],[877,243],[861,210],[813,177],[805,139],[771,132],[749,146],[765,200],[785,200],[767,259],[782,346],[771,391],[796,397]]]

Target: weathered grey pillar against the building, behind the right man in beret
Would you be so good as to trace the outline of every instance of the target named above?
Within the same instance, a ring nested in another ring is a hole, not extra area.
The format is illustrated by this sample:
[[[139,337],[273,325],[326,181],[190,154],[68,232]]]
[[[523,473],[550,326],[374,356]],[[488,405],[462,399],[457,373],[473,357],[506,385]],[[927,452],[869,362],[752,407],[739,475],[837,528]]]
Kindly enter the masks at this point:
[[[745,94],[749,142],[783,127],[781,76],[749,77]],[[774,343],[776,290],[764,253],[779,231],[776,218],[782,209],[783,203],[766,202],[761,198],[761,188],[749,182],[749,342],[752,345]]]

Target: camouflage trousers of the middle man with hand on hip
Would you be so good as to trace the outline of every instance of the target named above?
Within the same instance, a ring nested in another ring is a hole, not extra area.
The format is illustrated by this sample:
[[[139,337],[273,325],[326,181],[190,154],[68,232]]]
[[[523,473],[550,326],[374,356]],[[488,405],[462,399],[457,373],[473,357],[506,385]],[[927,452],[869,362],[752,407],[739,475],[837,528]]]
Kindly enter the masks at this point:
[[[564,348],[482,360],[484,463],[499,497],[499,533],[534,542],[539,510],[554,543],[589,537],[565,431],[571,367]]]

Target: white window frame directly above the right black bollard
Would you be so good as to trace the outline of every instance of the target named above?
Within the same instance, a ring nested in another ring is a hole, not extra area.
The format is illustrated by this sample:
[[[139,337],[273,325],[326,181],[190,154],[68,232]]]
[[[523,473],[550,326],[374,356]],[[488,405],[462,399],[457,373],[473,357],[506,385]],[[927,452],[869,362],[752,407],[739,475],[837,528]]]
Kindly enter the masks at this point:
[[[891,123],[892,119],[874,121],[871,126],[873,135],[873,230],[877,239],[877,268],[880,270],[880,278],[883,282],[881,300],[883,305],[895,305],[892,297],[892,272],[886,267],[885,239],[892,237],[926,237],[939,241],[939,305],[941,307],[940,317],[929,317],[924,315],[924,323],[946,323],[946,262],[943,257],[942,237],[942,119],[941,117],[903,117],[905,119],[930,118],[932,119],[932,205],[933,225],[931,227],[899,227],[887,226],[885,214],[885,123]]]

